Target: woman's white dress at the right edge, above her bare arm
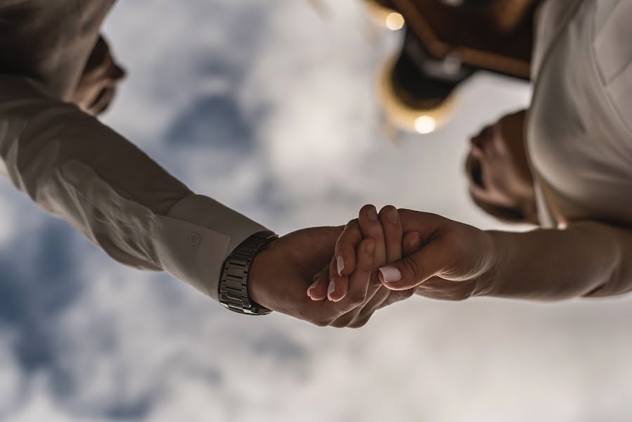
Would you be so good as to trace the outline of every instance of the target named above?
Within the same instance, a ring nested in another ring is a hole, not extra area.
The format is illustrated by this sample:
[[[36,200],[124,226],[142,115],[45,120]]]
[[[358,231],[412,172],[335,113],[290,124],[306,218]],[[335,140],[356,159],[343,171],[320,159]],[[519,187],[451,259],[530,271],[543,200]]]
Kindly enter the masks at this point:
[[[527,148],[541,222],[632,226],[632,1],[548,0],[532,66]]]

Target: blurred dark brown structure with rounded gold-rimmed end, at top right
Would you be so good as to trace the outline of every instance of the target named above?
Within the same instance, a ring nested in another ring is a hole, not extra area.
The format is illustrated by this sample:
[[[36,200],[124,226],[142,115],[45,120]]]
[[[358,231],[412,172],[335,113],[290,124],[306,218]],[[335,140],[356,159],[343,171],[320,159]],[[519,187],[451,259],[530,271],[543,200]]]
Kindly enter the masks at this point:
[[[406,23],[399,56],[380,81],[387,119],[399,129],[434,132],[449,121],[458,87],[477,70],[529,80],[540,2],[366,0],[372,15],[380,9]]]

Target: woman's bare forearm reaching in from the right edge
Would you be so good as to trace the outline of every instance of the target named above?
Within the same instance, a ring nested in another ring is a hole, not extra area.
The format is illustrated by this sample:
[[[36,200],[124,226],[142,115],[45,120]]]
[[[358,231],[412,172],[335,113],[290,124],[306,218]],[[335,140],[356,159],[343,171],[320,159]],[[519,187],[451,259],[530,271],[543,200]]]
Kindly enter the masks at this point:
[[[484,295],[562,300],[632,290],[632,231],[582,222],[566,230],[489,234],[498,256]]]

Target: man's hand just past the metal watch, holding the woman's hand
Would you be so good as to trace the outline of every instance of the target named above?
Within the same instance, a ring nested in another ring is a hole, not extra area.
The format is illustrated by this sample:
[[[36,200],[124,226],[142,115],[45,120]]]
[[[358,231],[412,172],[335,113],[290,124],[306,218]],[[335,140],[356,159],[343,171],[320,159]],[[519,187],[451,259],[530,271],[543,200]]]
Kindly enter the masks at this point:
[[[385,235],[380,221],[369,217],[372,215],[370,208],[375,212],[373,206],[364,207],[359,219],[344,228],[304,229],[270,243],[252,262],[250,297],[269,309],[317,326],[359,328],[377,309],[385,306],[389,298],[393,300],[407,295],[384,288],[377,277],[377,269],[401,259],[402,252],[417,250],[420,247],[418,236],[402,237],[399,223],[386,226]],[[344,295],[340,293],[342,290],[337,290],[332,293],[333,300],[324,300],[329,281],[327,268],[331,266],[336,244],[345,238],[341,237],[343,233],[354,236],[354,248],[349,256],[354,271],[353,274],[349,271],[347,276],[337,276],[338,286],[344,286]],[[374,237],[364,238],[364,234]],[[396,241],[392,235],[396,236]],[[305,248],[306,244],[311,247]],[[310,284],[317,287],[306,294]]]

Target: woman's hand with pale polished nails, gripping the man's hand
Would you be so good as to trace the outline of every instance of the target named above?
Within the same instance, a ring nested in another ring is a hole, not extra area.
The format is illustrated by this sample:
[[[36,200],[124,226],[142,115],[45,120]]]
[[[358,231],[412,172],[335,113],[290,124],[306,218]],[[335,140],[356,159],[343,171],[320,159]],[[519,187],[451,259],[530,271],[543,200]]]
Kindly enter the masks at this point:
[[[392,227],[389,229],[389,219],[382,216],[386,217],[391,210],[394,207],[385,207],[380,212],[386,233]],[[377,275],[383,289],[378,294],[381,298],[378,308],[413,293],[434,299],[464,300],[488,292],[497,256],[494,241],[487,232],[426,212],[397,210],[397,215],[404,253],[401,259],[396,259],[396,253],[387,259],[391,264],[379,265]],[[362,212],[359,222],[348,224],[336,243],[335,261],[344,262],[342,276],[352,274],[355,269],[355,250],[363,238]],[[385,248],[396,251],[394,241],[388,241],[388,237],[384,238]],[[377,238],[376,244],[380,240]],[[376,252],[375,263],[378,262],[382,261]],[[373,290],[368,293],[369,297]]]

